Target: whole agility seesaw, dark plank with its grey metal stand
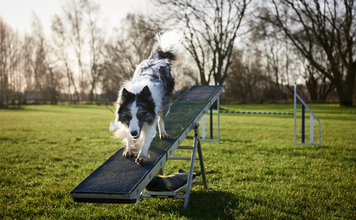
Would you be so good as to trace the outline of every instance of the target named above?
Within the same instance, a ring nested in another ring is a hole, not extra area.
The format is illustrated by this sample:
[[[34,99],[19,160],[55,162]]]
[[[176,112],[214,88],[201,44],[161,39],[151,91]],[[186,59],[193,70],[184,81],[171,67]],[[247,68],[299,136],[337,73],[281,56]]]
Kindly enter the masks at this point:
[[[160,140],[158,135],[153,139],[148,150],[147,165],[140,166],[135,158],[124,158],[123,148],[119,149],[107,159],[92,174],[86,177],[70,196],[75,202],[90,203],[137,203],[140,198],[181,198],[183,207],[189,202],[192,184],[203,184],[208,189],[204,160],[199,139],[199,123],[206,110],[219,99],[222,93],[221,86],[193,86],[180,96],[172,105],[164,124],[169,133],[168,140]],[[180,146],[188,133],[194,130],[193,146]],[[191,157],[174,157],[177,149],[192,150]],[[198,151],[198,157],[196,152]],[[142,191],[158,173],[163,173],[163,165],[168,159],[190,160],[188,182],[173,192],[151,192],[142,194]],[[200,163],[202,182],[193,179],[194,163]],[[186,190],[185,195],[178,195]]]

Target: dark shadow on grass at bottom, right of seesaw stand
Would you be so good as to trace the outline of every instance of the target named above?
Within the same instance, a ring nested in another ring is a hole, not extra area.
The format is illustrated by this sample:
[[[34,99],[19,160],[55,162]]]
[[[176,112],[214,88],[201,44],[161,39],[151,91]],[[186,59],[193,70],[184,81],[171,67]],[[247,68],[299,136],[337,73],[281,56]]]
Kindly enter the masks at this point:
[[[171,210],[175,211],[175,210]],[[188,219],[273,219],[280,217],[300,216],[300,213],[290,208],[271,204],[269,199],[246,197],[238,192],[198,191],[191,193],[189,206],[181,210],[181,216]]]

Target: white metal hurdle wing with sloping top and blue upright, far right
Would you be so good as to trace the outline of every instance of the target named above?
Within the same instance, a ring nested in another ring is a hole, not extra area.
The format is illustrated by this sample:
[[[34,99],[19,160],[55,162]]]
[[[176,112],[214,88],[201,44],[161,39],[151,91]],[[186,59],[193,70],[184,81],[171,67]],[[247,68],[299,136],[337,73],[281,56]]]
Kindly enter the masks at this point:
[[[297,142],[297,99],[302,103],[301,112],[301,142]],[[305,143],[305,108],[310,112],[310,142]],[[314,119],[319,123],[319,142],[314,142]],[[321,123],[318,117],[312,110],[305,104],[305,102],[297,94],[297,83],[294,84],[294,145],[297,144],[310,144],[321,146]]]

